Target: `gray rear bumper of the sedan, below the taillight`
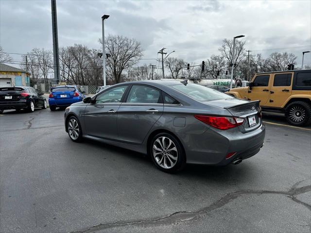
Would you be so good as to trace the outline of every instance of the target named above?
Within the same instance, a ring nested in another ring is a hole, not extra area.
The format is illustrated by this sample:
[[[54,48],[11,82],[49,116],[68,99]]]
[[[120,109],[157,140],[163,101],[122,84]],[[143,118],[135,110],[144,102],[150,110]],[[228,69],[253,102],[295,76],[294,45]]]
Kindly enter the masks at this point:
[[[187,163],[217,166],[224,166],[235,159],[247,159],[257,154],[263,146],[264,137],[264,125],[249,133],[241,133],[237,128],[220,131],[211,127],[199,137],[179,136],[186,150]],[[231,152],[236,153],[225,159]]]

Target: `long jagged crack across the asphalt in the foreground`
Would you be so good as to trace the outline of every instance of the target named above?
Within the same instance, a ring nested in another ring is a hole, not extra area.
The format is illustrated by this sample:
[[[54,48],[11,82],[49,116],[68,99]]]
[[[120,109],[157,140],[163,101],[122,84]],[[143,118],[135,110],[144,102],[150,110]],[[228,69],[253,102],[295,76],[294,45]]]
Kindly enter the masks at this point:
[[[241,197],[242,195],[251,195],[251,194],[280,194],[280,195],[287,195],[290,199],[294,200],[295,202],[302,204],[306,206],[309,210],[311,210],[311,205],[303,202],[301,200],[298,200],[295,196],[299,194],[303,194],[306,192],[311,191],[311,185],[303,186],[297,188],[296,186],[303,182],[305,180],[299,181],[295,183],[289,191],[273,191],[273,190],[241,190],[236,191],[232,193],[228,193],[225,196],[223,196],[221,199],[217,200],[211,205],[208,205],[206,207],[203,207],[197,211],[179,211],[174,212],[171,215],[158,217],[158,218],[152,218],[152,219],[139,219],[139,220],[133,220],[133,221],[117,221],[117,222],[111,222],[111,223],[103,223],[96,226],[92,226],[90,228],[80,230],[80,231],[73,231],[70,233],[95,233],[100,230],[109,229],[109,228],[115,228],[115,227],[123,227],[123,226],[131,226],[131,225],[156,225],[156,224],[181,224],[183,222],[188,222],[192,220],[197,220],[201,218],[202,216],[205,216],[208,212],[213,211],[215,209],[218,209],[220,207],[223,207],[229,201],[237,199],[238,197]]]

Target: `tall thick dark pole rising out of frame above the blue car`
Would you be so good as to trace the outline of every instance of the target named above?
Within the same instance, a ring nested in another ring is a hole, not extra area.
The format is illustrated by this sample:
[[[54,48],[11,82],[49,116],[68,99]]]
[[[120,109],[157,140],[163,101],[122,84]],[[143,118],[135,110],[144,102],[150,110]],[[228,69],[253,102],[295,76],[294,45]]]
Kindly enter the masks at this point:
[[[57,13],[56,0],[51,0],[52,6],[52,36],[53,36],[53,55],[54,55],[54,80],[59,82],[59,52],[58,52],[58,33],[57,33]]]

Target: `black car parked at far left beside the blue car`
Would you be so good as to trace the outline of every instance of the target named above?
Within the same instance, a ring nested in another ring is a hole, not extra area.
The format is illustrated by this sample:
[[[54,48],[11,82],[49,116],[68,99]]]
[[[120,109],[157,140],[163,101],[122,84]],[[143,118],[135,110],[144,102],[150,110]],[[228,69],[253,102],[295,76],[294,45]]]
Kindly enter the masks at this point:
[[[43,93],[38,93],[30,86],[0,87],[0,113],[5,109],[26,109],[34,112],[35,108],[47,108]]]

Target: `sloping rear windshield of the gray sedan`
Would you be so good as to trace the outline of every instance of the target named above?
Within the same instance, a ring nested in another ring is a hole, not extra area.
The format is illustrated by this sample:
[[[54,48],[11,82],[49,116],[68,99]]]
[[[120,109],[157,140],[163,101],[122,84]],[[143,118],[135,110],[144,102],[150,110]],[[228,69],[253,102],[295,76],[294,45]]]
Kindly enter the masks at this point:
[[[225,93],[194,83],[173,84],[170,87],[200,102],[232,98]]]

